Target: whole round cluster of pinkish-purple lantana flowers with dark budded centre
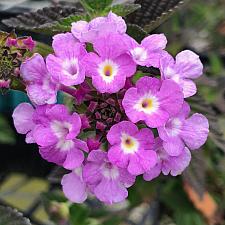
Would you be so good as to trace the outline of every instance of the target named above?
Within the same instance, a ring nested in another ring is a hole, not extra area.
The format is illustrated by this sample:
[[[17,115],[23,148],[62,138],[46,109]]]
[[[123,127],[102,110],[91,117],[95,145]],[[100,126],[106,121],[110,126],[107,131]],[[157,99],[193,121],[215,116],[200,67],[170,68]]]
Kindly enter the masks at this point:
[[[72,202],[94,195],[117,203],[139,175],[177,176],[208,136],[208,120],[191,115],[186,101],[202,75],[199,57],[185,50],[174,59],[163,34],[138,43],[126,30],[112,12],[74,22],[53,37],[53,54],[36,53],[20,67],[32,104],[15,109],[15,127],[44,159],[70,171],[62,187]],[[138,66],[160,74],[133,82]],[[73,96],[72,110],[56,103],[59,91]]]

